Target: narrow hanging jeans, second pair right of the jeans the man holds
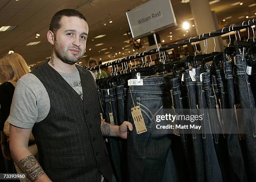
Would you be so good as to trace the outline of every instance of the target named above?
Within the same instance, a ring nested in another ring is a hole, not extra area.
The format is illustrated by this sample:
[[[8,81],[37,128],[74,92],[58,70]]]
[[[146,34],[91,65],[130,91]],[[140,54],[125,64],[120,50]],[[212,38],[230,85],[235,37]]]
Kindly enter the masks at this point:
[[[197,97],[196,97],[196,86],[195,82],[192,81],[189,70],[185,70],[185,82],[187,87],[187,100],[189,109],[196,109],[197,108]],[[190,115],[197,115],[198,113],[191,113]],[[203,147],[202,147],[202,135],[195,134],[193,132],[193,148],[195,154],[195,170],[196,170],[196,178],[197,182],[204,182],[205,181],[205,168],[204,168],[204,156],[203,156]]]

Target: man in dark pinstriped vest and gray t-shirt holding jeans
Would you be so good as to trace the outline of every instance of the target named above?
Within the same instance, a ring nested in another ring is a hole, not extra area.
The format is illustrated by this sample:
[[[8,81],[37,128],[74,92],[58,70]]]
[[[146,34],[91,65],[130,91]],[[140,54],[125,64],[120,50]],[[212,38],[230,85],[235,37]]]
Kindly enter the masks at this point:
[[[10,151],[32,181],[111,181],[102,134],[126,138],[132,130],[129,122],[120,127],[100,122],[95,80],[91,72],[75,65],[84,55],[87,36],[88,25],[80,12],[57,12],[47,32],[51,59],[24,75],[15,88],[8,117]],[[31,131],[39,163],[28,150]]]

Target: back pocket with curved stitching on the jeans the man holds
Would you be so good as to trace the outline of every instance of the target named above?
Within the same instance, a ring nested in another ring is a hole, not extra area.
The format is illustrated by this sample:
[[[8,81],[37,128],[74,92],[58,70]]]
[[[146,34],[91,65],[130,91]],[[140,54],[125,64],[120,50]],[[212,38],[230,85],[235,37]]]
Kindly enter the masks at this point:
[[[145,121],[146,127],[156,125],[156,115],[161,115],[163,107],[162,97],[136,98],[137,105],[141,108],[141,113]]]

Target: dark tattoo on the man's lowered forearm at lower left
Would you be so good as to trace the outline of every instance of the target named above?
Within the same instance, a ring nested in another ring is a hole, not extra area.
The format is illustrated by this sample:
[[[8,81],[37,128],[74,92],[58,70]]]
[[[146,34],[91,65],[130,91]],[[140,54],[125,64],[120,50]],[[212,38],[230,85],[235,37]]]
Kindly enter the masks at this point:
[[[41,175],[44,175],[44,170],[33,155],[29,155],[20,160],[19,165],[21,170],[27,174],[27,177],[31,181],[36,181]]]

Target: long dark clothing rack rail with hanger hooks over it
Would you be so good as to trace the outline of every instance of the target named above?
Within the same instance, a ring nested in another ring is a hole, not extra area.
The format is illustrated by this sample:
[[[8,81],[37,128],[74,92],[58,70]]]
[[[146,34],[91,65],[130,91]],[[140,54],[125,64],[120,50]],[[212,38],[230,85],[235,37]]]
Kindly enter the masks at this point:
[[[113,65],[118,65],[118,64],[123,63],[123,62],[128,62],[130,60],[139,59],[139,58],[144,57],[144,56],[153,55],[153,54],[156,54],[156,53],[160,53],[162,51],[170,50],[170,49],[173,49],[174,47],[180,47],[180,46],[183,46],[183,45],[188,45],[192,42],[198,42],[198,41],[206,40],[210,37],[217,37],[217,36],[229,33],[229,32],[242,30],[244,28],[249,28],[253,25],[256,25],[256,20],[254,20],[254,19],[253,20],[248,20],[248,22],[244,21],[244,22],[242,22],[240,24],[237,24],[237,25],[230,25],[229,27],[223,27],[222,29],[215,30],[214,32],[204,33],[204,34],[197,35],[195,37],[190,37],[188,39],[181,40],[181,41],[176,42],[174,44],[169,44],[169,45],[166,45],[166,46],[163,46],[163,47],[158,47],[157,49],[152,49],[152,50],[140,52],[140,53],[137,53],[136,55],[130,55],[130,56],[127,56],[127,57],[123,57],[123,58],[114,60],[112,62],[107,62],[106,64],[95,66],[95,67],[92,67],[91,69],[88,68],[88,70],[91,70],[91,71],[92,70],[99,70],[100,67],[109,67],[109,66],[113,66]]]

